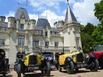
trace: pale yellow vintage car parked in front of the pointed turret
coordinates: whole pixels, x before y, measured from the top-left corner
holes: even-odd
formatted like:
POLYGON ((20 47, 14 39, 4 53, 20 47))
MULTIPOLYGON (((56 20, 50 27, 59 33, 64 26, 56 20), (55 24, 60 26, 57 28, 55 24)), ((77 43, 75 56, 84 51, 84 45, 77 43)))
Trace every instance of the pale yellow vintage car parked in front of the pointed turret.
POLYGON ((64 68, 69 74, 75 73, 80 68, 97 71, 99 66, 98 60, 95 57, 85 55, 77 50, 61 53, 58 60, 58 70, 62 71, 62 68, 64 68))

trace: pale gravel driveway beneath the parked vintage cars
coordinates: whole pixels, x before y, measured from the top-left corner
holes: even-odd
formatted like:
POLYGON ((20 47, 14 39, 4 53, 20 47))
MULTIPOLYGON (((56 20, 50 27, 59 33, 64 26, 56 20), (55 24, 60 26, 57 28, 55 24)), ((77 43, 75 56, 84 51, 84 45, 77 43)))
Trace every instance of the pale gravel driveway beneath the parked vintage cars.
MULTIPOLYGON (((11 71, 7 77, 17 77, 15 71, 11 71)), ((40 71, 34 72, 34 74, 26 74, 25 77, 46 77, 43 76, 40 71)), ((98 70, 98 72, 90 72, 89 70, 81 69, 75 74, 67 74, 65 71, 52 71, 50 77, 103 77, 103 70, 98 70)))

